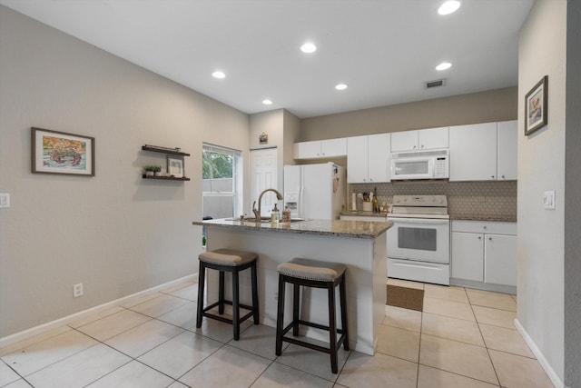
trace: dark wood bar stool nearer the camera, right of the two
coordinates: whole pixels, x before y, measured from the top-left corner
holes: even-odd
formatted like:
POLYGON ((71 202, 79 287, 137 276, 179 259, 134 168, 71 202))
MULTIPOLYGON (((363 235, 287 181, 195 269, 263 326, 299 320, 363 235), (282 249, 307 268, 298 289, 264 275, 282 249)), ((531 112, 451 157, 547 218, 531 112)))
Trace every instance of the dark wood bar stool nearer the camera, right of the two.
POLYGON ((282 342, 294 343, 310 349, 330 354, 330 369, 337 373, 337 350, 341 343, 345 350, 349 349, 349 333, 347 327, 347 293, 345 292, 344 264, 325 263, 310 259, 294 258, 290 262, 279 264, 279 306, 276 318, 276 355, 282 353, 282 342), (284 291, 287 283, 293 284, 292 322, 287 327, 284 324, 284 291), (326 288, 329 293, 329 326, 312 323, 300 319, 300 285, 314 288, 326 288), (340 289, 341 329, 337 328, 335 319, 335 287, 340 289), (292 328, 292 335, 299 335, 299 325, 326 330, 329 332, 330 347, 300 341, 297 338, 286 337, 292 328), (337 334, 340 338, 337 340, 337 334))

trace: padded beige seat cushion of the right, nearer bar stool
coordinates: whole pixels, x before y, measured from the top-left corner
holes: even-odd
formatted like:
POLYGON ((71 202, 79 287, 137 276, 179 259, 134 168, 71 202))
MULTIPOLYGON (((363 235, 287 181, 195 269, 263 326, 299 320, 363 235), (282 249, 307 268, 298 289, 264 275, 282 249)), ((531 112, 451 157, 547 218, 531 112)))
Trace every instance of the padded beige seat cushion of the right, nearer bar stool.
POLYGON ((345 272, 346 268, 344 264, 320 262, 299 257, 277 266, 279 274, 320 282, 333 282, 345 272))

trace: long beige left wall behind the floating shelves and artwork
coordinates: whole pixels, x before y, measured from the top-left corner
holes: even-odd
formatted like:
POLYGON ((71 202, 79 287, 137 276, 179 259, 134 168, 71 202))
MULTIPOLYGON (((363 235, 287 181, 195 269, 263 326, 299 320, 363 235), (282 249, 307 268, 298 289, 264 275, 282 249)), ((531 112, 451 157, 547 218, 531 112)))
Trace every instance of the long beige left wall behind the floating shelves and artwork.
POLYGON ((248 115, 2 5, 0 61, 0 337, 196 273, 202 142, 248 150, 248 115), (94 136, 96 176, 31 174, 31 126, 94 136), (143 144, 192 181, 143 181, 143 144))

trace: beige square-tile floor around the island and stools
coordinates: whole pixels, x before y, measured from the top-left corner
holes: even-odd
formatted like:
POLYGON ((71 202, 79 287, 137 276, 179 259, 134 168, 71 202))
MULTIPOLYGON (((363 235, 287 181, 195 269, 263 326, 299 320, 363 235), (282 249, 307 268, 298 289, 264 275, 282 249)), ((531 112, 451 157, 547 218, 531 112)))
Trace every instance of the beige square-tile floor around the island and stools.
POLYGON ((0 387, 552 387, 514 327, 517 299, 389 279, 425 290, 423 313, 386 306, 374 356, 288 345, 274 329, 204 319, 184 282, 0 349, 0 387))

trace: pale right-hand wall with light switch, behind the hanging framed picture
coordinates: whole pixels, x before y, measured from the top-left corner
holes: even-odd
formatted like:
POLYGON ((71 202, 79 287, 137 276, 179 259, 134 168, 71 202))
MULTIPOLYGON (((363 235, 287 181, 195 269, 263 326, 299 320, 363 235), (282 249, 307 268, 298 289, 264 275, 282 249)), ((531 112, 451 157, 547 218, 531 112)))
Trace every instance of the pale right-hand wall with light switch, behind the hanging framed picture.
MULTIPOLYGON (((524 101, 528 91, 544 75, 548 75, 549 100, 547 126, 529 136, 521 129, 518 135, 517 319, 543 353, 545 360, 539 361, 548 363, 561 381, 564 377, 563 236, 568 132, 566 5, 564 0, 537 1, 521 29, 518 53, 518 100, 524 101), (547 190, 555 190, 555 210, 543 208, 543 193, 547 190)), ((524 114, 524 104, 518 104, 521 128, 524 114)))

